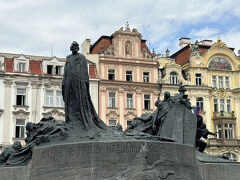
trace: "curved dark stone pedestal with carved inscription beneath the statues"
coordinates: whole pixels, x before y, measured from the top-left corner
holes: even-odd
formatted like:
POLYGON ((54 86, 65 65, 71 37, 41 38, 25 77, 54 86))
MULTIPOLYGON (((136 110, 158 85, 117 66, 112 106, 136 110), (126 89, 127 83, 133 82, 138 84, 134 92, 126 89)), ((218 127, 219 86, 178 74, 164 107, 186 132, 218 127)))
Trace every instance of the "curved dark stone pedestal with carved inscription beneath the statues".
POLYGON ((237 180, 240 165, 201 163, 192 146, 159 141, 78 142, 37 147, 26 167, 0 168, 11 180, 237 180))

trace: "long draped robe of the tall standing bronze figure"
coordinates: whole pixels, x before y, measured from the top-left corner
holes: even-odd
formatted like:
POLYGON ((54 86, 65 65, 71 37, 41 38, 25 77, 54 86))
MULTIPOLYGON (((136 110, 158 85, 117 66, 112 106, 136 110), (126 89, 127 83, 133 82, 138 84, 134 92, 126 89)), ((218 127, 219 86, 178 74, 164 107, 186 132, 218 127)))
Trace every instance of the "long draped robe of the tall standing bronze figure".
POLYGON ((65 102, 65 121, 79 130, 105 129, 99 119, 89 92, 88 65, 80 53, 66 58, 62 93, 65 102))

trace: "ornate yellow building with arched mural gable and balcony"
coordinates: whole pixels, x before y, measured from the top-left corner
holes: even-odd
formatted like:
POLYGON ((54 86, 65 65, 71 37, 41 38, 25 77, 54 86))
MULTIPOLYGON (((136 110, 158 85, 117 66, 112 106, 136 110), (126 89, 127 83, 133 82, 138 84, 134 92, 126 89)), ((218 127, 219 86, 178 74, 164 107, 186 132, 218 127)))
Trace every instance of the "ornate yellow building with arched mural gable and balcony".
POLYGON ((218 38, 191 44, 181 38, 181 49, 168 56, 158 56, 163 91, 177 92, 180 82, 186 85, 192 106, 200 106, 207 128, 218 132, 209 136, 206 151, 240 158, 240 58, 234 49, 218 38))

